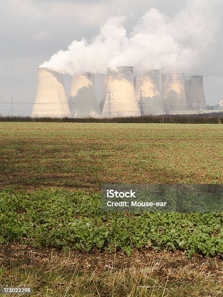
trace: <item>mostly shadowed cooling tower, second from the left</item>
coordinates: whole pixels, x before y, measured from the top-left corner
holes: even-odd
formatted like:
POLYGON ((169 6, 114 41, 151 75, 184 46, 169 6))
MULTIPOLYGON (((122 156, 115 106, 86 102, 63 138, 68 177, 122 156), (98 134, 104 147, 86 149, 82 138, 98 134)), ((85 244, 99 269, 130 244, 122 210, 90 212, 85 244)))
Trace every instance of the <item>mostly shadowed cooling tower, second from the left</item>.
POLYGON ((93 73, 85 73, 72 78, 69 108, 74 117, 101 116, 93 73))

